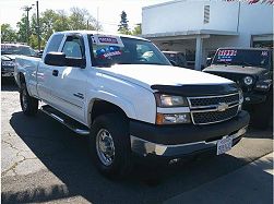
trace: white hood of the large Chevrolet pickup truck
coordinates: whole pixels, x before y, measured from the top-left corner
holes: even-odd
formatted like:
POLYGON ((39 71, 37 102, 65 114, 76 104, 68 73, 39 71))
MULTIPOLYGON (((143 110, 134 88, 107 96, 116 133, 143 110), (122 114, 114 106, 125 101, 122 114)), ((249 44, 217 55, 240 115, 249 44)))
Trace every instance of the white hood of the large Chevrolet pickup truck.
POLYGON ((231 84, 230 80, 200 71, 171 65, 116 64, 111 68, 97 68, 108 74, 151 89, 152 85, 214 85, 231 84))

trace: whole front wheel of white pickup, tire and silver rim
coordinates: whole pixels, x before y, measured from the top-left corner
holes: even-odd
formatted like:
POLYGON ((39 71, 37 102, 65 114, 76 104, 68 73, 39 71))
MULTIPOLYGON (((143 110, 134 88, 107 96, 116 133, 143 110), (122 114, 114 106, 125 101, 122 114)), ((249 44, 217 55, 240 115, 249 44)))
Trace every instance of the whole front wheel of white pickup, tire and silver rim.
POLYGON ((127 119, 108 113, 95 119, 90 137, 92 158, 98 170, 110 178, 126 177, 132 167, 127 119))

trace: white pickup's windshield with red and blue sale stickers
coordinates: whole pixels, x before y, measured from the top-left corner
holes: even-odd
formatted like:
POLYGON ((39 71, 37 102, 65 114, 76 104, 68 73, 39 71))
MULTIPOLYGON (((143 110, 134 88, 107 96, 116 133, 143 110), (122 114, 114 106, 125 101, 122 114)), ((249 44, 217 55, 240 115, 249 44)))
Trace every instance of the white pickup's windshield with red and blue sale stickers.
POLYGON ((165 56, 151 43, 119 36, 90 35, 93 65, 162 64, 170 65, 165 56))

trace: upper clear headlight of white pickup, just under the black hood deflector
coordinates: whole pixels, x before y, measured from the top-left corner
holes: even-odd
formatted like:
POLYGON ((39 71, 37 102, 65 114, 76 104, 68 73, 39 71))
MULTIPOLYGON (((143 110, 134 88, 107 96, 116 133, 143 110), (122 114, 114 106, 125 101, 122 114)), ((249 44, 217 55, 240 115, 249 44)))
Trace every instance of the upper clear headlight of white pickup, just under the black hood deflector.
POLYGON ((182 96, 170 96, 165 94, 155 94, 157 107, 183 107, 188 106, 187 98, 182 96))

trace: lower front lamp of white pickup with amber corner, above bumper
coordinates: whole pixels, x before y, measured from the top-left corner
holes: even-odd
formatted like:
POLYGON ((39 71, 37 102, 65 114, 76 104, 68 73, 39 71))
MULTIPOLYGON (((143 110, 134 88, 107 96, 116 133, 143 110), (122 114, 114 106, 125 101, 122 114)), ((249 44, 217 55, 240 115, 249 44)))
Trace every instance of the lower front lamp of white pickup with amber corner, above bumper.
POLYGON ((156 124, 190 123, 189 112, 182 113, 157 113, 156 124))

